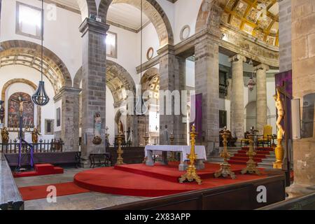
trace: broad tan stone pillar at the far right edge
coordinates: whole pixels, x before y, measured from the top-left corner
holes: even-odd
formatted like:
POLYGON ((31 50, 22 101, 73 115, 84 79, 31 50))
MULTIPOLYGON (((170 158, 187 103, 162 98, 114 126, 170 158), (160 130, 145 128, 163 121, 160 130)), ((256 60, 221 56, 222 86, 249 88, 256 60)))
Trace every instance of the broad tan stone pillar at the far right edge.
MULTIPOLYGON (((300 99, 301 120, 315 120, 314 101, 308 99, 311 94, 315 94, 315 1, 292 0, 290 3, 293 99, 300 99)), ((283 26, 282 22, 279 26, 283 26)), ((307 136, 303 136, 302 131, 302 138, 293 141, 294 183, 286 189, 290 196, 315 192, 315 123, 313 127, 307 127, 308 125, 302 125, 307 136), (312 136, 309 136, 310 133, 312 136)))

